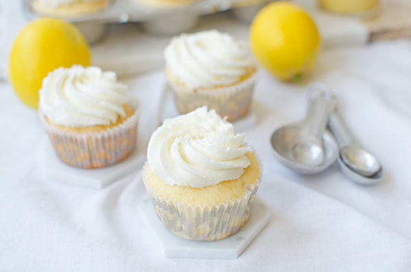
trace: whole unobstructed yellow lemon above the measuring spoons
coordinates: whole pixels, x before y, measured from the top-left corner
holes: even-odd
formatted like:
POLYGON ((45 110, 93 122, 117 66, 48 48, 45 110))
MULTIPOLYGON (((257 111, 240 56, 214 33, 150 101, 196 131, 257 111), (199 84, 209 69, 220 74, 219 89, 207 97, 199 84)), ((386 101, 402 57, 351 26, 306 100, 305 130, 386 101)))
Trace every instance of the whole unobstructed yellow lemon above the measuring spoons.
POLYGON ((267 70, 284 81, 311 71, 321 49, 316 25, 299 6, 274 2, 262 8, 250 29, 251 50, 267 70))

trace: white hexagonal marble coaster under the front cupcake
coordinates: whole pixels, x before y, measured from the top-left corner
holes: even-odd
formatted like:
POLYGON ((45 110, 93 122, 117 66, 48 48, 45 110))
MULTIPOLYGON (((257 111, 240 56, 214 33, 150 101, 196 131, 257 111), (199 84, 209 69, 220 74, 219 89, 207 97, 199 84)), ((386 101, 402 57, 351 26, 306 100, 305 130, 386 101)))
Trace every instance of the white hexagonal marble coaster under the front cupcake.
POLYGON ((138 210, 147 229, 158 239, 164 256, 178 258, 236 259, 271 218, 269 208, 256 197, 247 223, 236 234, 222 240, 194 241, 169 232, 155 214, 150 199, 145 200, 138 210))

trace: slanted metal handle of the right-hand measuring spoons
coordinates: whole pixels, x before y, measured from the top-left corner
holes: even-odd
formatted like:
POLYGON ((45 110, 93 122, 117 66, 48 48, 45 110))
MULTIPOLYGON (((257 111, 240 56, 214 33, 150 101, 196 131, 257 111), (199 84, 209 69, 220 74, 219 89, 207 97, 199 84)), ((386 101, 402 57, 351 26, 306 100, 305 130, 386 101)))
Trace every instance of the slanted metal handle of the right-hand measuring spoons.
POLYGON ((356 139, 349 131, 338 110, 334 110, 334 112, 329 115, 328 125, 336 137, 340 147, 344 147, 346 145, 358 145, 356 139))

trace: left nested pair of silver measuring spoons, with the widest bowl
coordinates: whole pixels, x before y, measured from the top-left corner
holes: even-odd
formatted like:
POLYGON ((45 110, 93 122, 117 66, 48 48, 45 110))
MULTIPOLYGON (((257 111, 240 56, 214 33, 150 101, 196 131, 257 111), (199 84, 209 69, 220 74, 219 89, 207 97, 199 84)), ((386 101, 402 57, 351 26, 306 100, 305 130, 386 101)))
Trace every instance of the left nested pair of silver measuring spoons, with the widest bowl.
POLYGON ((277 129, 271 145, 279 162, 299 173, 314 174, 324 171, 337 158, 336 143, 325 132, 334 100, 328 88, 319 83, 311 84, 306 95, 310 103, 306 119, 277 129), (317 90, 320 95, 314 97, 317 90))

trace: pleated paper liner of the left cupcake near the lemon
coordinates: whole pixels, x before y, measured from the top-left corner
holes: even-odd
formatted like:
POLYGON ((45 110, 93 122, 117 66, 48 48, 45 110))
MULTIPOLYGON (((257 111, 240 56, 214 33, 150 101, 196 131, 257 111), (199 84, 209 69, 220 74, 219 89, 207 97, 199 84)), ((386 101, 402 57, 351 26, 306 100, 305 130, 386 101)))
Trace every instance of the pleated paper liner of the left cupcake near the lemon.
POLYGON ((83 169, 95 169, 120 162, 132 153, 136 145, 140 107, 137 100, 129 103, 135 112, 120 125, 93 133, 64 132, 51 125, 39 110, 40 121, 49 134, 60 160, 83 169))

